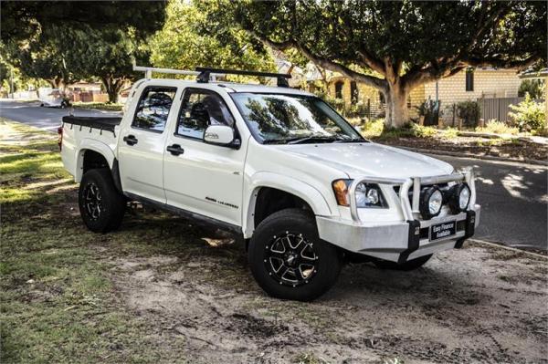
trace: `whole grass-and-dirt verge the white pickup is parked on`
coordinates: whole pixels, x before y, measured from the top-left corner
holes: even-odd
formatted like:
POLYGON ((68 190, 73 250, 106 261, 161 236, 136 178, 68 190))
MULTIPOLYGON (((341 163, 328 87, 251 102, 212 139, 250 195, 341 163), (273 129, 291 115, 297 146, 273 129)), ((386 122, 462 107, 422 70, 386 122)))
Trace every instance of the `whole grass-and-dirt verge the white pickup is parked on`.
POLYGON ((547 258, 468 243, 281 301, 242 246, 175 216, 90 233, 53 137, 0 126, 3 363, 548 363, 547 258))

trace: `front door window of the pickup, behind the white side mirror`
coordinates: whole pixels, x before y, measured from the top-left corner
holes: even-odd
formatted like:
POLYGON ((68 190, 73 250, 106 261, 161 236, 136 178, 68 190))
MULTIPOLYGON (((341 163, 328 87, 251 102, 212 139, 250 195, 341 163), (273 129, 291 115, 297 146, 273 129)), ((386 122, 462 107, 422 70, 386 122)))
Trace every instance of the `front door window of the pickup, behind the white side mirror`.
POLYGON ((216 92, 189 88, 184 92, 181 113, 177 122, 177 135, 203 139, 209 125, 234 127, 234 119, 227 104, 216 92))

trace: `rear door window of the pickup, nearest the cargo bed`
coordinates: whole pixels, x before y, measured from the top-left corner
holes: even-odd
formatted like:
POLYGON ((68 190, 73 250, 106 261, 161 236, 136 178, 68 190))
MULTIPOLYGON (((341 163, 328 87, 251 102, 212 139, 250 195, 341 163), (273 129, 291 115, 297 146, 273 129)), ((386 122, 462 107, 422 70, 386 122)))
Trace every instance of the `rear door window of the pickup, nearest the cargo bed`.
POLYGON ((177 88, 145 88, 135 110, 132 127, 162 132, 177 88))

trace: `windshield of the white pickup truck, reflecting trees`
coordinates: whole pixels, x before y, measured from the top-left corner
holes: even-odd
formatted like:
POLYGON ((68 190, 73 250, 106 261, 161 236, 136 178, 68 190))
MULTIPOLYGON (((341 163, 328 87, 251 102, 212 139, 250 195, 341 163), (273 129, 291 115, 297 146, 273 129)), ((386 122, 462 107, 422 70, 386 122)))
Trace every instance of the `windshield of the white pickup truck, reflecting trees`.
POLYGON ((230 96, 263 143, 364 141, 352 125, 319 98, 258 93, 230 96))

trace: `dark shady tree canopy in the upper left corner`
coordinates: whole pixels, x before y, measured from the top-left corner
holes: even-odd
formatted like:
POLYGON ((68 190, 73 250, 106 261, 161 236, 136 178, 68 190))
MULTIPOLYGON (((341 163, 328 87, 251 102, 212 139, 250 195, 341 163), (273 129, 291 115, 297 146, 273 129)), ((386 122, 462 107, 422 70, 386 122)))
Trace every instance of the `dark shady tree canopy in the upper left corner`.
POLYGON ((26 77, 53 87, 97 77, 115 102, 146 36, 163 26, 164 1, 2 2, 2 43, 26 77))

